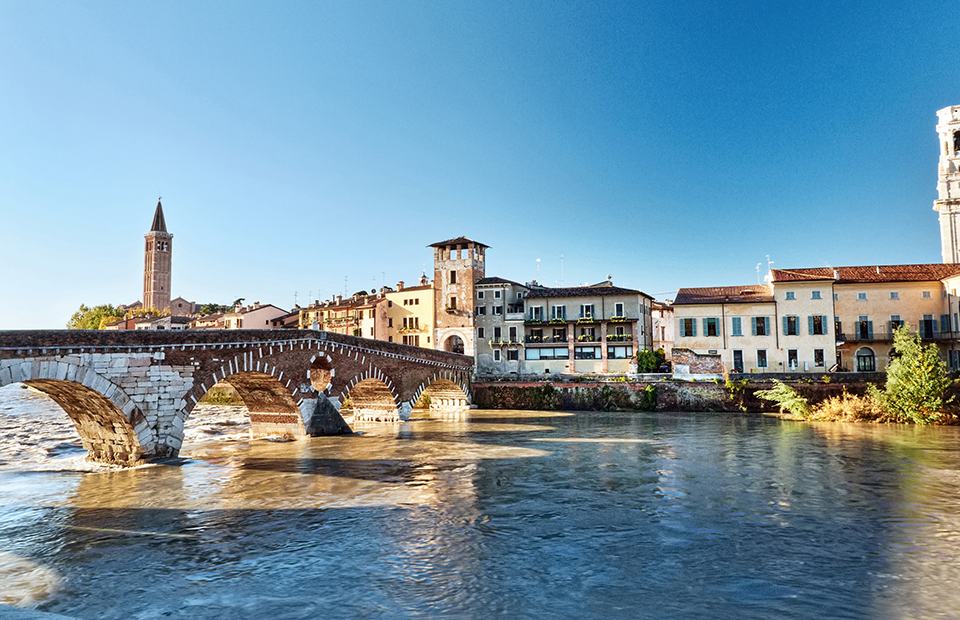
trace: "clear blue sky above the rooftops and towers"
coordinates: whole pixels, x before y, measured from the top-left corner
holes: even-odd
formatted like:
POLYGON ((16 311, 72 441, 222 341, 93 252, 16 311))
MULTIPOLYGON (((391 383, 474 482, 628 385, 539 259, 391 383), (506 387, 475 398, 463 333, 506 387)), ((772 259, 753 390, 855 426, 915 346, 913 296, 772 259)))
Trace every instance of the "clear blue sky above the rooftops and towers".
POLYGON ((958 22, 926 0, 0 0, 0 329, 141 299, 161 194, 173 295, 200 303, 410 283, 461 235, 487 275, 660 299, 768 255, 939 262, 958 22))

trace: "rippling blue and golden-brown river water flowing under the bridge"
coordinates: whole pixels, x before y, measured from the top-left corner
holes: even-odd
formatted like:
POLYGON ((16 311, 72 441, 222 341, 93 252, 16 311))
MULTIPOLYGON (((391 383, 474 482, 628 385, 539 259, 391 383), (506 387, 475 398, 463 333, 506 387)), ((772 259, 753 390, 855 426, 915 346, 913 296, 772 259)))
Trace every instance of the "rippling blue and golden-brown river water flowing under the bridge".
MULTIPOLYGON (((960 429, 474 411, 84 462, 0 390, 0 602, 77 618, 956 618, 960 429)), ((416 416, 416 412, 415 412, 416 416)))

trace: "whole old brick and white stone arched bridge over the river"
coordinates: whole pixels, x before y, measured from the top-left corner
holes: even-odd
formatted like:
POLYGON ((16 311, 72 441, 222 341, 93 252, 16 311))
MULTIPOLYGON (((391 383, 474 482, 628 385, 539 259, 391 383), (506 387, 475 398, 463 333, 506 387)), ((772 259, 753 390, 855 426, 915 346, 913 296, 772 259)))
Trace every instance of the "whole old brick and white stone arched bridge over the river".
POLYGON ((314 330, 0 331, 0 387, 22 382, 70 416, 94 461, 176 456, 183 427, 219 381, 236 388, 254 437, 351 432, 340 416, 394 422, 421 395, 470 406, 473 359, 314 330))

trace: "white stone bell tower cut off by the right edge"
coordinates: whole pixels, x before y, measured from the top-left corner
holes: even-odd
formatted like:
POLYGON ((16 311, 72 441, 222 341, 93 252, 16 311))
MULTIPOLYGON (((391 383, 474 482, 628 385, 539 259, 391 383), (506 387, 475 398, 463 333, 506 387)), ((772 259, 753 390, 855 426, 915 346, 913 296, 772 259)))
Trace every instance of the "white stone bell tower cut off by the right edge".
POLYGON ((943 262, 960 263, 960 106, 937 111, 937 118, 940 165, 933 210, 940 212, 943 262))

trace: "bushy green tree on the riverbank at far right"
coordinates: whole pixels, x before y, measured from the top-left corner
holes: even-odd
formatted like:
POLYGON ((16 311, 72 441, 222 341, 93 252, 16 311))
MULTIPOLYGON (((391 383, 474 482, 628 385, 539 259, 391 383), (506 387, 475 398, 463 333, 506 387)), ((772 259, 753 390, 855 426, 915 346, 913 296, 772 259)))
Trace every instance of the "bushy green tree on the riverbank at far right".
POLYGON ((884 390, 871 390, 898 422, 928 424, 943 417, 943 407, 953 398, 944 394, 953 384, 936 344, 923 346, 920 334, 911 335, 907 326, 893 332, 896 357, 887 366, 884 390))

